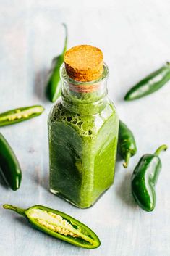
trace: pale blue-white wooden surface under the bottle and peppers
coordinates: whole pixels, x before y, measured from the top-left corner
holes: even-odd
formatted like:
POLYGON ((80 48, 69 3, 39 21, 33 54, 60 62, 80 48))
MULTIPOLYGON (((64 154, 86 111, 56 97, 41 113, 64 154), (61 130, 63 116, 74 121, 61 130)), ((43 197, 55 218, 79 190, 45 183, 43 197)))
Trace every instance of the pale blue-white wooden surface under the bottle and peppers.
POLYGON ((11 191, 0 179, 0 202, 29 207, 47 205, 67 212, 98 234, 101 247, 80 249, 33 230, 14 212, 0 209, 1 256, 169 256, 170 157, 163 169, 152 213, 132 198, 130 178, 140 156, 160 144, 170 147, 170 83, 136 102, 124 93, 140 78, 170 60, 170 2, 153 1, 0 1, 0 112, 43 104, 46 112, 33 120, 0 128, 22 166, 22 184, 11 191), (51 103, 44 86, 51 59, 64 42, 61 22, 69 29, 69 46, 93 44, 103 50, 110 67, 109 96, 119 116, 135 133, 138 152, 129 168, 116 165, 114 186, 88 210, 80 210, 48 191, 47 117, 51 103))

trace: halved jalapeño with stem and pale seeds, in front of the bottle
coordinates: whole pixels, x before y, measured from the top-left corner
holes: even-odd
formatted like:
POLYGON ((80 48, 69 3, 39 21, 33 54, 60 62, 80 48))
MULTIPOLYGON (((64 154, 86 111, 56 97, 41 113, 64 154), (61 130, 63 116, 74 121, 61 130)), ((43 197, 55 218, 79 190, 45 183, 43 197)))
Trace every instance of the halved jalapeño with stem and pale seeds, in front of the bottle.
POLYGON ((88 226, 64 212, 42 205, 34 205, 26 210, 12 205, 3 205, 3 207, 23 215, 34 228, 77 247, 93 249, 101 244, 98 236, 88 226))

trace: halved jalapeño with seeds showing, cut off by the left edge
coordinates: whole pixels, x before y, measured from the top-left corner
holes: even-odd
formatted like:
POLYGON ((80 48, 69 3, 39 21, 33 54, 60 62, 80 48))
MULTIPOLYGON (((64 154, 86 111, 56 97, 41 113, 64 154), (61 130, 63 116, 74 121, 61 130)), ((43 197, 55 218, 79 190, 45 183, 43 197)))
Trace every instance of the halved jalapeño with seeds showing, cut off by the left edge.
POLYGON ((44 108, 41 105, 20 107, 0 114, 0 126, 13 125, 41 115, 44 108))

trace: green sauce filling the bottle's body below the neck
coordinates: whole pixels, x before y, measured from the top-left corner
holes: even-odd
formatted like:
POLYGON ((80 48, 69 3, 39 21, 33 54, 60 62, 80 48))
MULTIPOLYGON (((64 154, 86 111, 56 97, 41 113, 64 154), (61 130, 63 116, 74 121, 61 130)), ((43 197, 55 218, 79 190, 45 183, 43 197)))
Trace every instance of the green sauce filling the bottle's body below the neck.
POLYGON ((48 119, 51 192, 77 207, 93 205, 114 181, 118 126, 111 102, 95 115, 80 115, 59 101, 48 119))

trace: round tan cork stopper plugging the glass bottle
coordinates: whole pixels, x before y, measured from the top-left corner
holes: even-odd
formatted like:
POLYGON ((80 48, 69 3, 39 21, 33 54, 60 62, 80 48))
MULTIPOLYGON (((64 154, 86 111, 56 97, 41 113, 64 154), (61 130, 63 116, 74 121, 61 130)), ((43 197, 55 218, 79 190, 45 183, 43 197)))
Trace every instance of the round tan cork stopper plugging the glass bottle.
POLYGON ((67 75, 80 82, 97 80, 103 73, 103 53, 90 45, 69 49, 64 55, 67 75))

